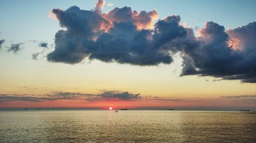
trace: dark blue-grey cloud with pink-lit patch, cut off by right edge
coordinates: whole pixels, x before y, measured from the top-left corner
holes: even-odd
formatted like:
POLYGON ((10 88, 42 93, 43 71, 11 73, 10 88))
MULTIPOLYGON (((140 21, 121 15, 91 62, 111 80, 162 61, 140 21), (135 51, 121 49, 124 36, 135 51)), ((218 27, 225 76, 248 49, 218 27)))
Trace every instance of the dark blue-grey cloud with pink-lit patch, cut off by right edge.
POLYGON ((256 22, 227 32, 223 26, 207 22, 199 31, 199 47, 184 49, 182 75, 256 82, 255 32, 256 22))

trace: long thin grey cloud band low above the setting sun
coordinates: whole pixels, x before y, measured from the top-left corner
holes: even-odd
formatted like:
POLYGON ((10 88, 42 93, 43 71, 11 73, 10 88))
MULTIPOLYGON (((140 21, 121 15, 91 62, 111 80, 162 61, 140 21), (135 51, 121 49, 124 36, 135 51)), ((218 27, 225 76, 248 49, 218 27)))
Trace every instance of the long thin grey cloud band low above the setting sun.
POLYGON ((87 100, 87 101, 135 101, 141 99, 140 94, 132 94, 122 91, 103 91, 100 94, 52 92, 44 95, 32 94, 0 94, 0 102, 7 101, 53 101, 53 100, 87 100))

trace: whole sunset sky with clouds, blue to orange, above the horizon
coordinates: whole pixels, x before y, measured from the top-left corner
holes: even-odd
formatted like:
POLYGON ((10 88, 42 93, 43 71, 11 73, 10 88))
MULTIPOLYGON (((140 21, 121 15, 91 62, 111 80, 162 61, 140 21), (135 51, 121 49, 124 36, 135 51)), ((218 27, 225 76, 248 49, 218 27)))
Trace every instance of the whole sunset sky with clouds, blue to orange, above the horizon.
POLYGON ((256 110, 255 6, 0 0, 0 108, 256 110))

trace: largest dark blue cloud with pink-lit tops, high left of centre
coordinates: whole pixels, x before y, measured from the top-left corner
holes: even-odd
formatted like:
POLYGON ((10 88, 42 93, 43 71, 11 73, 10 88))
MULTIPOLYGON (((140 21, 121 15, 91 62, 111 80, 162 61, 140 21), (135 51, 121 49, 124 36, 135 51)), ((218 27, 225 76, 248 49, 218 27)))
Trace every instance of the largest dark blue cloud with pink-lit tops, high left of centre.
MULTIPOLYGON (((125 7, 103 15, 75 6, 66 11, 53 9, 52 12, 67 31, 56 33, 55 50, 48 54, 48 61, 75 64, 89 57, 91 60, 132 65, 172 62, 170 55, 161 51, 159 46, 160 40, 165 42, 160 36, 163 31, 159 31, 157 40, 153 41, 152 30, 137 30, 140 24, 150 24, 154 12, 134 14, 131 8, 125 7), (128 19, 124 15, 129 16, 128 19)), ((161 22, 178 26, 175 20, 161 22)), ((170 37, 180 36, 173 36, 171 32, 168 34, 170 37)))

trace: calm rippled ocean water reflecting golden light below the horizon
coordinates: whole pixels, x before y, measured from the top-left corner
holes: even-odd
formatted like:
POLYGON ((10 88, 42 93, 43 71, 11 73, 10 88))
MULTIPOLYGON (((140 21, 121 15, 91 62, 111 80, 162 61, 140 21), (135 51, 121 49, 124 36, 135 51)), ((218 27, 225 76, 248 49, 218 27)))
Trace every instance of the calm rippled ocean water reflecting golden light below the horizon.
POLYGON ((0 142, 256 142, 256 112, 2 110, 0 142))

